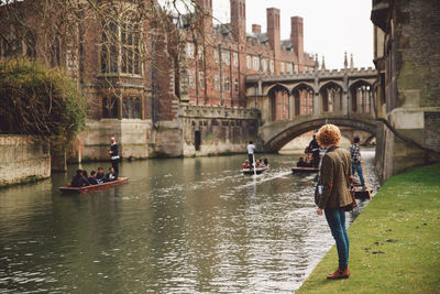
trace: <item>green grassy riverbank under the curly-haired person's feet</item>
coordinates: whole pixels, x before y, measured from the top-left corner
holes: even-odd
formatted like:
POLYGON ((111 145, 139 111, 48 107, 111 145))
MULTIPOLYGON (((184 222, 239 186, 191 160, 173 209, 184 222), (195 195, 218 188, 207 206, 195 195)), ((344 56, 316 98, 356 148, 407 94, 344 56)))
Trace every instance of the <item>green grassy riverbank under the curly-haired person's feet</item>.
POLYGON ((349 228, 348 280, 329 281, 336 247, 296 293, 438 293, 440 164, 391 177, 349 228))

